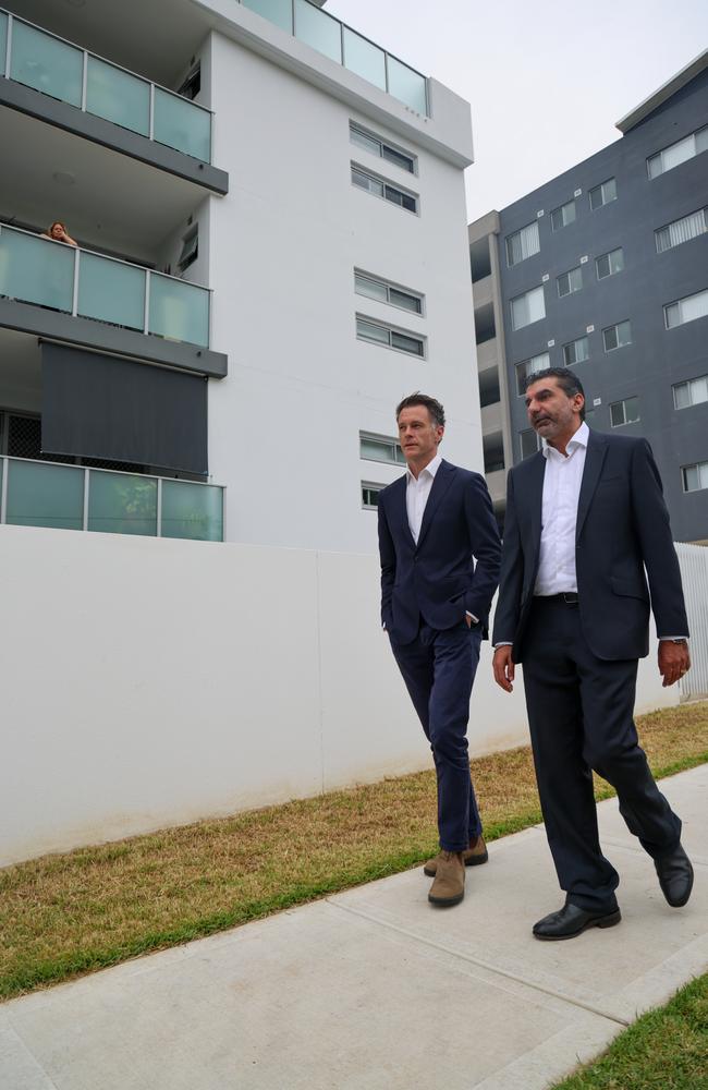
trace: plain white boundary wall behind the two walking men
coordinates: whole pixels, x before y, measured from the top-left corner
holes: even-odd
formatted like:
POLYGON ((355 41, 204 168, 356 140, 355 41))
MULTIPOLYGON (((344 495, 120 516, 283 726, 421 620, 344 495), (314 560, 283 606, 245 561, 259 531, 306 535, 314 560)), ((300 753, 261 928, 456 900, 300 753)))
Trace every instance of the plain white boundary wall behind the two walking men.
MULTIPOLYGON (((0 528, 0 865, 430 766, 373 556, 0 528)), ((473 754, 527 741, 521 681, 473 754)), ((655 654, 637 710, 675 704, 655 654)))

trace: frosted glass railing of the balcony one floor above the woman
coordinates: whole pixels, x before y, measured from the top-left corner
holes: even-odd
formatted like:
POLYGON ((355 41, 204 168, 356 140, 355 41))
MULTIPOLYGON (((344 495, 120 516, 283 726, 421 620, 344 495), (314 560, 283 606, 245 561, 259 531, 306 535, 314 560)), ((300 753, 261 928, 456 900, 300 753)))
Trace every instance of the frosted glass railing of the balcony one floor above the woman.
POLYGON ((0 75, 211 162, 211 111, 0 9, 0 75))

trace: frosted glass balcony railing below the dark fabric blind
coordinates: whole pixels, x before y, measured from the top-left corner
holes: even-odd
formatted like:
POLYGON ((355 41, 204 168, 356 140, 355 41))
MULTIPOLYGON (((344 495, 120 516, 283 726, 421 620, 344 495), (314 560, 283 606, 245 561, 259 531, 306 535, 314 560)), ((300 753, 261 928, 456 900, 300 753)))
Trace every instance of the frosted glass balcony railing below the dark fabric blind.
POLYGON ((0 458, 0 524, 223 541, 223 487, 0 458))

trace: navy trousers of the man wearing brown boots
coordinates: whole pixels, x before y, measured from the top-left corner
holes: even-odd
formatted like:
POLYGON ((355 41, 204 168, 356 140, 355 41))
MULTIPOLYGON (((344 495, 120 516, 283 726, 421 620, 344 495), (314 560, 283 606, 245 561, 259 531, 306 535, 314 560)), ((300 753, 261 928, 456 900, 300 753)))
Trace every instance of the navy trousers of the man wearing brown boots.
POLYGON ((445 851, 464 851, 481 833, 469 775, 467 720, 481 630, 462 621, 438 630, 420 621, 412 643, 391 649, 430 742, 438 778, 438 831, 445 851))

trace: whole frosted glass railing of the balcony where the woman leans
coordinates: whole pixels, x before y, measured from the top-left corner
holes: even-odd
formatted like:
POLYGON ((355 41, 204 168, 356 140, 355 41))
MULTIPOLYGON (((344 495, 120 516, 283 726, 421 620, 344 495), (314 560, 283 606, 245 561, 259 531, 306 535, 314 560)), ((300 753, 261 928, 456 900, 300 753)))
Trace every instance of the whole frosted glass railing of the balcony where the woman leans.
POLYGON ((209 347, 207 288, 16 227, 0 227, 0 295, 209 347))

